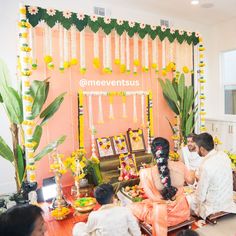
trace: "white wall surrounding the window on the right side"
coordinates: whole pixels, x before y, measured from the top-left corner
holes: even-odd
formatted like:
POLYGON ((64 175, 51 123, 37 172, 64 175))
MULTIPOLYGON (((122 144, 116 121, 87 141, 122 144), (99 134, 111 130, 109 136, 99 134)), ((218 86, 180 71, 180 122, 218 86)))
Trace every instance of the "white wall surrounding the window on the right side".
MULTIPOLYGON (((208 80, 206 87, 206 110, 208 118, 233 120, 235 116, 224 115, 224 94, 221 85, 220 53, 236 49, 236 18, 211 27, 208 36, 208 80)), ((235 68, 232 68, 235 70, 235 68)))

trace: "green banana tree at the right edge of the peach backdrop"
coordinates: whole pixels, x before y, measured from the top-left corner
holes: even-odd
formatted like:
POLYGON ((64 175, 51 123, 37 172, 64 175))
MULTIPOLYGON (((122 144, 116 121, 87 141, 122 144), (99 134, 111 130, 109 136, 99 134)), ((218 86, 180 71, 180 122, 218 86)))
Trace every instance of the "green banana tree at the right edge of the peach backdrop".
MULTIPOLYGON (((194 106, 197 93, 194 94, 192 85, 185 85, 185 76, 181 74, 179 78, 173 80, 159 79, 165 101, 170 109, 179 117, 178 132, 180 144, 186 143, 186 137, 193 132, 195 126, 195 115, 198 107, 194 106)), ((174 125, 168 120, 172 132, 175 134, 174 125)))

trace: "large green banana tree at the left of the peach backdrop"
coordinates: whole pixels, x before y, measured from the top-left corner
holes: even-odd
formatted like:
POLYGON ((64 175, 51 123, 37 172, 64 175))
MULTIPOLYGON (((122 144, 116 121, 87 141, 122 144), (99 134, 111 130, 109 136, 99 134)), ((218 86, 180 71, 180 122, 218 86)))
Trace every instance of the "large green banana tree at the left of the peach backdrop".
MULTIPOLYGON (((7 145, 0 136, 0 156, 11 162, 15 168, 15 181, 17 192, 21 190, 21 185, 26 177, 26 163, 24 157, 24 129, 23 129, 23 99, 21 91, 17 91, 10 85, 9 72, 6 64, 0 60, 0 103, 4 107, 10 123, 12 136, 12 148, 7 145)), ((44 110, 43 106, 47 100, 49 91, 49 79, 44 81, 34 80, 29 89, 32 97, 32 112, 28 119, 37 122, 33 131, 32 142, 35 143, 34 151, 37 150, 43 126, 57 112, 64 100, 66 93, 60 94, 44 110)), ((41 160, 45 155, 52 152, 58 145, 64 142, 66 136, 61 136, 57 140, 49 143, 34 157, 35 161, 41 160)))

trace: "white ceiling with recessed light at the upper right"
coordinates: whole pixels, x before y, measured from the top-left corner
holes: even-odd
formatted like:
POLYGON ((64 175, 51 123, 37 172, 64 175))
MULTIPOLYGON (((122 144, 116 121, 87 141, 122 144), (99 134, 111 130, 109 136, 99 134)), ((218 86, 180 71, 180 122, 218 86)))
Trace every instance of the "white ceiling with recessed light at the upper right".
POLYGON ((190 2, 191 0, 119 0, 113 3, 133 10, 147 11, 163 17, 178 17, 207 25, 236 17, 236 0, 200 0, 200 4, 195 6, 190 2))

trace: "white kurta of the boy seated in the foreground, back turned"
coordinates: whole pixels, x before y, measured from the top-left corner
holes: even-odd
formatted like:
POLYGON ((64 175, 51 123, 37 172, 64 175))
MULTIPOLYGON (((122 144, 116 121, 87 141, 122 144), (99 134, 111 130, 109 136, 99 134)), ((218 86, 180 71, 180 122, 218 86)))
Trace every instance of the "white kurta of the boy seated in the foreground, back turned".
POLYGON ((77 223, 72 234, 73 236, 141 236, 141 231, 129 209, 107 204, 91 212, 86 224, 77 223))

